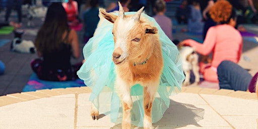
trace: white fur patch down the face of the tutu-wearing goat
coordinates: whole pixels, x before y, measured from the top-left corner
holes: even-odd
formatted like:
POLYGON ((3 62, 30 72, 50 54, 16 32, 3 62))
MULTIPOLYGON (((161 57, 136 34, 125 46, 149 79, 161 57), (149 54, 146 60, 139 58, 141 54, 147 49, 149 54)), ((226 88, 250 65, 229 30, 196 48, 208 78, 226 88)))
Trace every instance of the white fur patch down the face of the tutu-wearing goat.
POLYGON ((124 59, 128 56, 128 50, 127 50, 127 42, 131 41, 132 39, 128 39, 130 31, 133 29, 135 26, 135 20, 124 18, 124 19, 119 19, 117 21, 117 27, 116 30, 114 30, 115 34, 115 48, 121 48, 122 53, 120 58, 124 59))

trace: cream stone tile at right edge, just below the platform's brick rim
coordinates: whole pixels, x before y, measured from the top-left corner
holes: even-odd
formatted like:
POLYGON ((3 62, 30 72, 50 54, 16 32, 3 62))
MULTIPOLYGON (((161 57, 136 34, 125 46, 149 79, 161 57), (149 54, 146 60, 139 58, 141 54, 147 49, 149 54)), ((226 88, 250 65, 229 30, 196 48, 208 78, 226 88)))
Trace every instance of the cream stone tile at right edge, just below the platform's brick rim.
POLYGON ((220 95, 201 96, 221 115, 258 115, 258 102, 220 95))

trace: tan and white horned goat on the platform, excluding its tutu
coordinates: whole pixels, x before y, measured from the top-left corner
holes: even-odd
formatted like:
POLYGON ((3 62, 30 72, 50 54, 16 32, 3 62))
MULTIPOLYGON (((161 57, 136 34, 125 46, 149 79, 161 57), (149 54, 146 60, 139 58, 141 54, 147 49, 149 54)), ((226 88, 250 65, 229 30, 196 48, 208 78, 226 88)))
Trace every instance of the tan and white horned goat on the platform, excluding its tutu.
MULTIPOLYGON (((163 57, 158 29, 151 25, 141 13, 124 15, 118 2, 118 16, 100 9, 100 14, 113 23, 114 50, 112 60, 115 64, 115 88, 123 107, 122 128, 131 128, 131 110, 133 101, 131 88, 140 84, 144 88, 144 120, 145 129, 152 128, 152 103, 160 84, 163 70, 163 57)), ((98 119, 99 111, 92 105, 91 115, 98 119)))

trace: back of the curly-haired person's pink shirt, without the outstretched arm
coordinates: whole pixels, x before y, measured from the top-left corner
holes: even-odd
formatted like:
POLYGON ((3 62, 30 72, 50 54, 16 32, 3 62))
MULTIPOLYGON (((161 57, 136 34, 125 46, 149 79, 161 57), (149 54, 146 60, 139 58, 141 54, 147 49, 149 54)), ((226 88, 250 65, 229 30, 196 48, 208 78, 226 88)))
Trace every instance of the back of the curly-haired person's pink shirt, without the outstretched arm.
POLYGON ((208 33, 209 31, 213 33, 214 40, 216 41, 212 66, 217 68, 223 60, 230 60, 237 63, 242 50, 242 36, 239 31, 228 24, 211 27, 208 33))

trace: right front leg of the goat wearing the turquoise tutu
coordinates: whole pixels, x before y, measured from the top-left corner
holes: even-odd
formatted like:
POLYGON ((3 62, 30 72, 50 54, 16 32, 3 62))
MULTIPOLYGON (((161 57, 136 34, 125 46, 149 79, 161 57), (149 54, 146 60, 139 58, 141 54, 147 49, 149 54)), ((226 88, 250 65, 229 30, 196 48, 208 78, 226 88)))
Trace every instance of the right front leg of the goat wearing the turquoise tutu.
POLYGON ((157 92, 158 86, 159 86, 159 82, 156 82, 156 83, 150 83, 149 85, 144 87, 144 100, 143 100, 143 107, 144 107, 143 127, 144 127, 144 129, 153 128, 151 111, 152 111, 152 103, 155 98, 155 94, 157 92))

